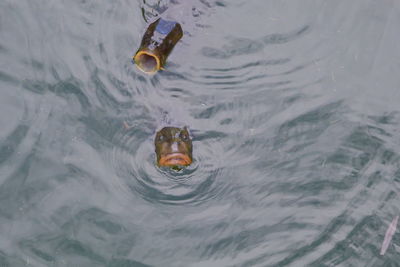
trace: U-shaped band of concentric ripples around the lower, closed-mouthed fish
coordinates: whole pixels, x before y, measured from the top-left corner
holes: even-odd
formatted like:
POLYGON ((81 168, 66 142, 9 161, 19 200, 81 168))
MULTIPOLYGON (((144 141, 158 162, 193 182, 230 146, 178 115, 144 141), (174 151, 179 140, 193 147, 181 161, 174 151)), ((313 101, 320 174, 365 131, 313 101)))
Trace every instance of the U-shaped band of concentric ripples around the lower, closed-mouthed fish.
POLYGON ((112 142, 112 165, 119 179, 133 194, 150 202, 198 204, 219 191, 215 179, 221 169, 221 155, 215 140, 200 145, 195 137, 193 163, 181 170, 158 167, 153 140, 134 127, 122 128, 112 142))

